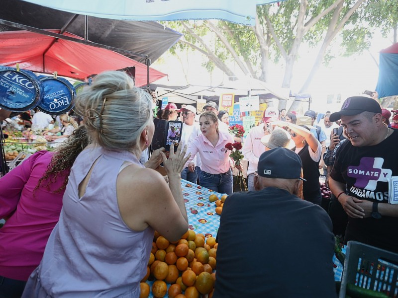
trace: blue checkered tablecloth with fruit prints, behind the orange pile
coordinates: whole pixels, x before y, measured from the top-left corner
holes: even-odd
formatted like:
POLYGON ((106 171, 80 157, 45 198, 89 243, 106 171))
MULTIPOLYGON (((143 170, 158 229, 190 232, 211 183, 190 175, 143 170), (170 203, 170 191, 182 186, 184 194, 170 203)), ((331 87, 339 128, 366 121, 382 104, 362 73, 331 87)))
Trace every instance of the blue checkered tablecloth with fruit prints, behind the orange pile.
POLYGON ((208 197, 216 195, 221 198, 223 194, 184 179, 181 179, 181 188, 188 213, 189 228, 196 233, 211 234, 215 237, 220 225, 220 216, 215 213, 215 203, 210 203, 208 197))

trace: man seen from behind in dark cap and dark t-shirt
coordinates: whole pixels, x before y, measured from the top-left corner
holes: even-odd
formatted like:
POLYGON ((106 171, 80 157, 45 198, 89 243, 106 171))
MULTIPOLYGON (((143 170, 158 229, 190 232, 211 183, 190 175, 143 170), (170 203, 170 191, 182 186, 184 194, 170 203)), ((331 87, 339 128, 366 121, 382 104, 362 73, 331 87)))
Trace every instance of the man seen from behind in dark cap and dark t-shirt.
POLYGON ((336 297, 332 224, 297 196, 299 156, 277 147, 261 154, 257 170, 257 191, 225 200, 213 298, 336 297))

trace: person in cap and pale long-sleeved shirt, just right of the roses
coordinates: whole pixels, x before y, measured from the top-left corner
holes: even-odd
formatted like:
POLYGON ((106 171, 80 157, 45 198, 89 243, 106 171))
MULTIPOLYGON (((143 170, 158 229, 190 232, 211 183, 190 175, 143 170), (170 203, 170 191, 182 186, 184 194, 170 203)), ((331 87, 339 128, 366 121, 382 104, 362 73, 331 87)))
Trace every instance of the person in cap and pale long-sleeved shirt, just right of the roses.
POLYGON ((277 108, 269 107, 264 111, 263 123, 250 129, 246 140, 243 143, 242 153, 249 161, 247 168, 248 190, 254 189, 254 173, 257 171, 257 164, 260 155, 265 151, 265 146, 261 143, 261 139, 271 134, 271 122, 279 120, 279 110, 277 108))

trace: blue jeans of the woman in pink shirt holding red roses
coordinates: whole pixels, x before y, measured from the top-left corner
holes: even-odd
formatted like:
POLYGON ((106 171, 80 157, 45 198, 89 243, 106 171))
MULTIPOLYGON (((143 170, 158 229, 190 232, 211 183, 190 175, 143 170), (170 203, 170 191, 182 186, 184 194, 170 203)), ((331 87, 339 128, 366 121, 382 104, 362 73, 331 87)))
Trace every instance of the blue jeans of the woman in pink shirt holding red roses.
POLYGON ((205 188, 212 189, 221 194, 232 194, 233 178, 231 169, 223 174, 209 174, 201 171, 199 180, 200 185, 205 188))

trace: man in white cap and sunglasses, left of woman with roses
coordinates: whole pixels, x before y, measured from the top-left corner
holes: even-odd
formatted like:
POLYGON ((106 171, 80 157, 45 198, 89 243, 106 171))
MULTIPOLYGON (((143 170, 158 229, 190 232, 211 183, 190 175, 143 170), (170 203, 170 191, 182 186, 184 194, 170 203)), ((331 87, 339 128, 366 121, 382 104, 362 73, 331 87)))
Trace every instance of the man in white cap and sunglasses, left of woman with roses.
MULTIPOLYGON (((192 105, 186 105, 181 108, 183 116, 183 129, 181 133, 181 145, 187 145, 198 137, 200 132, 200 127, 197 122, 195 122, 196 108, 192 105)), ((181 178, 188 180, 192 183, 197 183, 198 173, 196 167, 200 167, 200 157, 195 156, 194 160, 181 172, 181 178)))

